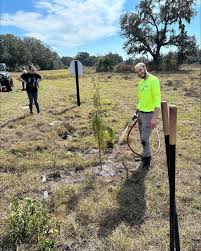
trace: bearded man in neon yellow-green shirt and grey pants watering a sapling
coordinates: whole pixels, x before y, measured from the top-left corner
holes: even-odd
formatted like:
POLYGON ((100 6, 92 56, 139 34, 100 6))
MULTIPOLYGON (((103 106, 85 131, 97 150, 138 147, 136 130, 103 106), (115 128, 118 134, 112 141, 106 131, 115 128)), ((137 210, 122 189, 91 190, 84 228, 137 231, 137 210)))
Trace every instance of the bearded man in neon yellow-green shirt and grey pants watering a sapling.
POLYGON ((147 71, 144 63, 135 65, 135 73, 141 78, 138 83, 138 127, 143 146, 142 167, 149 168, 151 148, 149 138, 156 127, 157 116, 161 106, 160 82, 157 77, 147 71))

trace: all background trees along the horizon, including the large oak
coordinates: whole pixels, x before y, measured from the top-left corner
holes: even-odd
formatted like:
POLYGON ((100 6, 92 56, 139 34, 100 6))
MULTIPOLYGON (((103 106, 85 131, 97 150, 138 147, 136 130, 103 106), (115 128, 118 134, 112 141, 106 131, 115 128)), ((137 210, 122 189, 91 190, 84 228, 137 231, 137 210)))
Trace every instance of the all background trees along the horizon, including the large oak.
POLYGON ((186 24, 196 15, 195 4, 196 0, 141 0, 134 12, 121 15, 121 36, 125 39, 124 49, 130 56, 125 61, 117 53, 96 57, 79 52, 75 57, 60 58, 39 39, 6 34, 0 35, 0 62, 12 70, 29 63, 42 70, 52 70, 68 67, 73 59, 78 59, 85 66, 96 66, 98 72, 127 71, 128 65, 138 60, 137 55, 141 55, 143 61, 147 61, 149 55, 148 63, 155 70, 177 69, 186 62, 200 63, 200 48, 195 36, 186 31, 186 24), (174 52, 163 55, 163 48, 174 48, 174 52))

